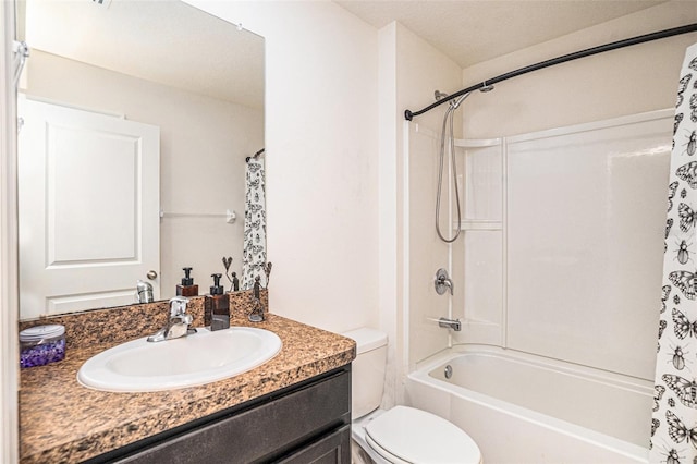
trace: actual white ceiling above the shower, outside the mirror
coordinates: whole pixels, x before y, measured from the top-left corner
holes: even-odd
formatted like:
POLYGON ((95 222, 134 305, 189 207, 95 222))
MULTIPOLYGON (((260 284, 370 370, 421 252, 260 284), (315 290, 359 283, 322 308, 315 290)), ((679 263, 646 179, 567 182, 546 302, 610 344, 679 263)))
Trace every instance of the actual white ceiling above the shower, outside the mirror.
POLYGON ((377 28, 398 21, 460 66, 467 68, 664 1, 335 0, 335 3, 377 28))

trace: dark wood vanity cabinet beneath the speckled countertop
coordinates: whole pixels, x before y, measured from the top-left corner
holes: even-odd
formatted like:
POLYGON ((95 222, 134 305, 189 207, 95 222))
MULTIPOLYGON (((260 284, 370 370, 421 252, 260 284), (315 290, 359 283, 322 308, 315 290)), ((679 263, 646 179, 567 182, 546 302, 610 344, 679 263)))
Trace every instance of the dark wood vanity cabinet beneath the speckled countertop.
POLYGON ((89 463, 350 464, 351 365, 89 463))

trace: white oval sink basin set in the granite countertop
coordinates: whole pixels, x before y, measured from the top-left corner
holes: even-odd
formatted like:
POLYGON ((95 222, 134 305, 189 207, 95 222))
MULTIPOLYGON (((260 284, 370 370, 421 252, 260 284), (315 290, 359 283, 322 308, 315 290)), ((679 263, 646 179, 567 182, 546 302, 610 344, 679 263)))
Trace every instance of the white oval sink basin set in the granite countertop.
POLYGON ((106 350, 83 364, 77 380, 105 391, 172 390, 236 376, 281 350, 281 339, 264 329, 197 330, 181 339, 152 343, 144 337, 106 350))

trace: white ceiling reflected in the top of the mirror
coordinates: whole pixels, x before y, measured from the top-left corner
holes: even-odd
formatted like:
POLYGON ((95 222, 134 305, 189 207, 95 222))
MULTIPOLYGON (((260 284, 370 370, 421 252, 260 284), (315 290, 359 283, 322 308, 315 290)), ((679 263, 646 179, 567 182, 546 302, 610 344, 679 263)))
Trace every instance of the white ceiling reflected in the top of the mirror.
POLYGON ((264 108, 264 39, 181 1, 27 0, 26 41, 72 60, 264 108))

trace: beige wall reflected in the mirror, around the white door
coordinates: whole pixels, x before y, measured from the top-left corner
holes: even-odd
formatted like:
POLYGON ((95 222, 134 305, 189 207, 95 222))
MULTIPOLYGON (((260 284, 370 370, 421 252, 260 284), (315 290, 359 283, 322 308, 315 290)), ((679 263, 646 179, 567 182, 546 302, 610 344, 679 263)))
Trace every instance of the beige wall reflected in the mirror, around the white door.
MULTIPOLYGON (((240 272, 244 232, 245 157, 264 147, 264 111, 158 85, 33 50, 26 93, 58 103, 125 115, 160 127, 160 205, 164 212, 224 218, 163 218, 162 297, 175 294, 182 268, 194 268, 199 293, 232 256, 240 272), (56 85, 60 82, 60 85, 56 85)), ((240 274, 240 273, 239 273, 240 274)), ((135 282, 134 282, 135 285, 135 282)), ((135 289, 135 286, 134 286, 135 289)))

